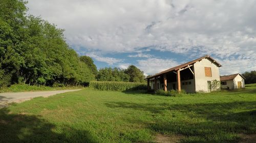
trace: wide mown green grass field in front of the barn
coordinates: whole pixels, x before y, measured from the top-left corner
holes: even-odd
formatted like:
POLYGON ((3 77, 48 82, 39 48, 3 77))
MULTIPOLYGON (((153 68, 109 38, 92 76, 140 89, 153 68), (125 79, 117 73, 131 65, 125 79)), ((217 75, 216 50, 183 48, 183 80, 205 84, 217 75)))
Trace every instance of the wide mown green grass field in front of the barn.
POLYGON ((256 84, 164 97, 81 90, 0 109, 0 142, 239 142, 256 134, 256 84))

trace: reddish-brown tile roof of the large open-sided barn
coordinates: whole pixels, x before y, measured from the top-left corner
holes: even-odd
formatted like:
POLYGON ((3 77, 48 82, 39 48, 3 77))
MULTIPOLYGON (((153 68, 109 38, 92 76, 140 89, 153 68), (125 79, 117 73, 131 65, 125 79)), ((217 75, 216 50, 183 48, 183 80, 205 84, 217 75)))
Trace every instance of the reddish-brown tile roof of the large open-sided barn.
POLYGON ((198 62, 198 61, 201 61, 201 60, 203 60, 203 59, 209 59, 210 61, 212 61, 213 63, 215 63, 218 67, 221 67, 221 64, 220 64, 220 63, 216 62, 216 61, 215 61, 213 58, 211 58, 209 55, 205 55, 205 56, 203 56, 203 57, 201 57, 201 58, 199 58, 199 59, 196 59, 196 60, 194 60, 194 61, 190 61, 190 62, 187 62, 187 63, 185 63, 185 64, 182 64, 182 65, 179 65, 179 66, 176 66, 176 67, 167 69, 167 70, 162 71, 162 72, 160 72, 160 73, 157 73, 157 74, 155 74, 155 75, 149 76, 149 77, 147 77, 147 78, 145 78, 145 79, 157 77, 157 76, 159 76, 159 75, 161 75, 161 74, 164 74, 164 73, 167 73, 167 72, 177 71, 178 69, 184 68, 184 67, 186 67, 186 66, 188 66, 188 65, 194 64, 194 63, 196 63, 196 62, 198 62))

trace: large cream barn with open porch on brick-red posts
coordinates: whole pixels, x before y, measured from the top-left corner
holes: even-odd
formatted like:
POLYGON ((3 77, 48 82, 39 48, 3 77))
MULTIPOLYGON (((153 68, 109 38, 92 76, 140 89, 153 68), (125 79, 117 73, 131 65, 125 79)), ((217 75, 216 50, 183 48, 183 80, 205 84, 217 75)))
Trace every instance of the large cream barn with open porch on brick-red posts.
POLYGON ((209 55, 145 78, 148 90, 211 92, 213 80, 220 81, 219 64, 209 55))

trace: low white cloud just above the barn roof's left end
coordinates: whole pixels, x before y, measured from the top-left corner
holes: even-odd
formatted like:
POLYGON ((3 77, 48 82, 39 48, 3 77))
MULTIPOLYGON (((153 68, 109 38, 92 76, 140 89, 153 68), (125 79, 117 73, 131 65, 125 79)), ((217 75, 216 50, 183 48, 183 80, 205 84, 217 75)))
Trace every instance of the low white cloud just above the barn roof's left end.
POLYGON ((148 75, 153 75, 169 68, 180 65, 181 63, 176 62, 172 59, 159 59, 150 58, 146 60, 138 61, 138 68, 144 71, 148 75))

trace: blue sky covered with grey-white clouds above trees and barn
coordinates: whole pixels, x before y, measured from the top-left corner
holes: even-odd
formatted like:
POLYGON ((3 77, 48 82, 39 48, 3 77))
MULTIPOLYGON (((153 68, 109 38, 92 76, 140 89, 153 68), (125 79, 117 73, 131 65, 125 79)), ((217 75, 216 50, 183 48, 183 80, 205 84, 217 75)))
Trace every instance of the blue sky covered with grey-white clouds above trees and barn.
POLYGON ((65 29, 98 68, 146 74, 209 54, 222 75, 256 70, 256 1, 29 0, 29 13, 65 29))

